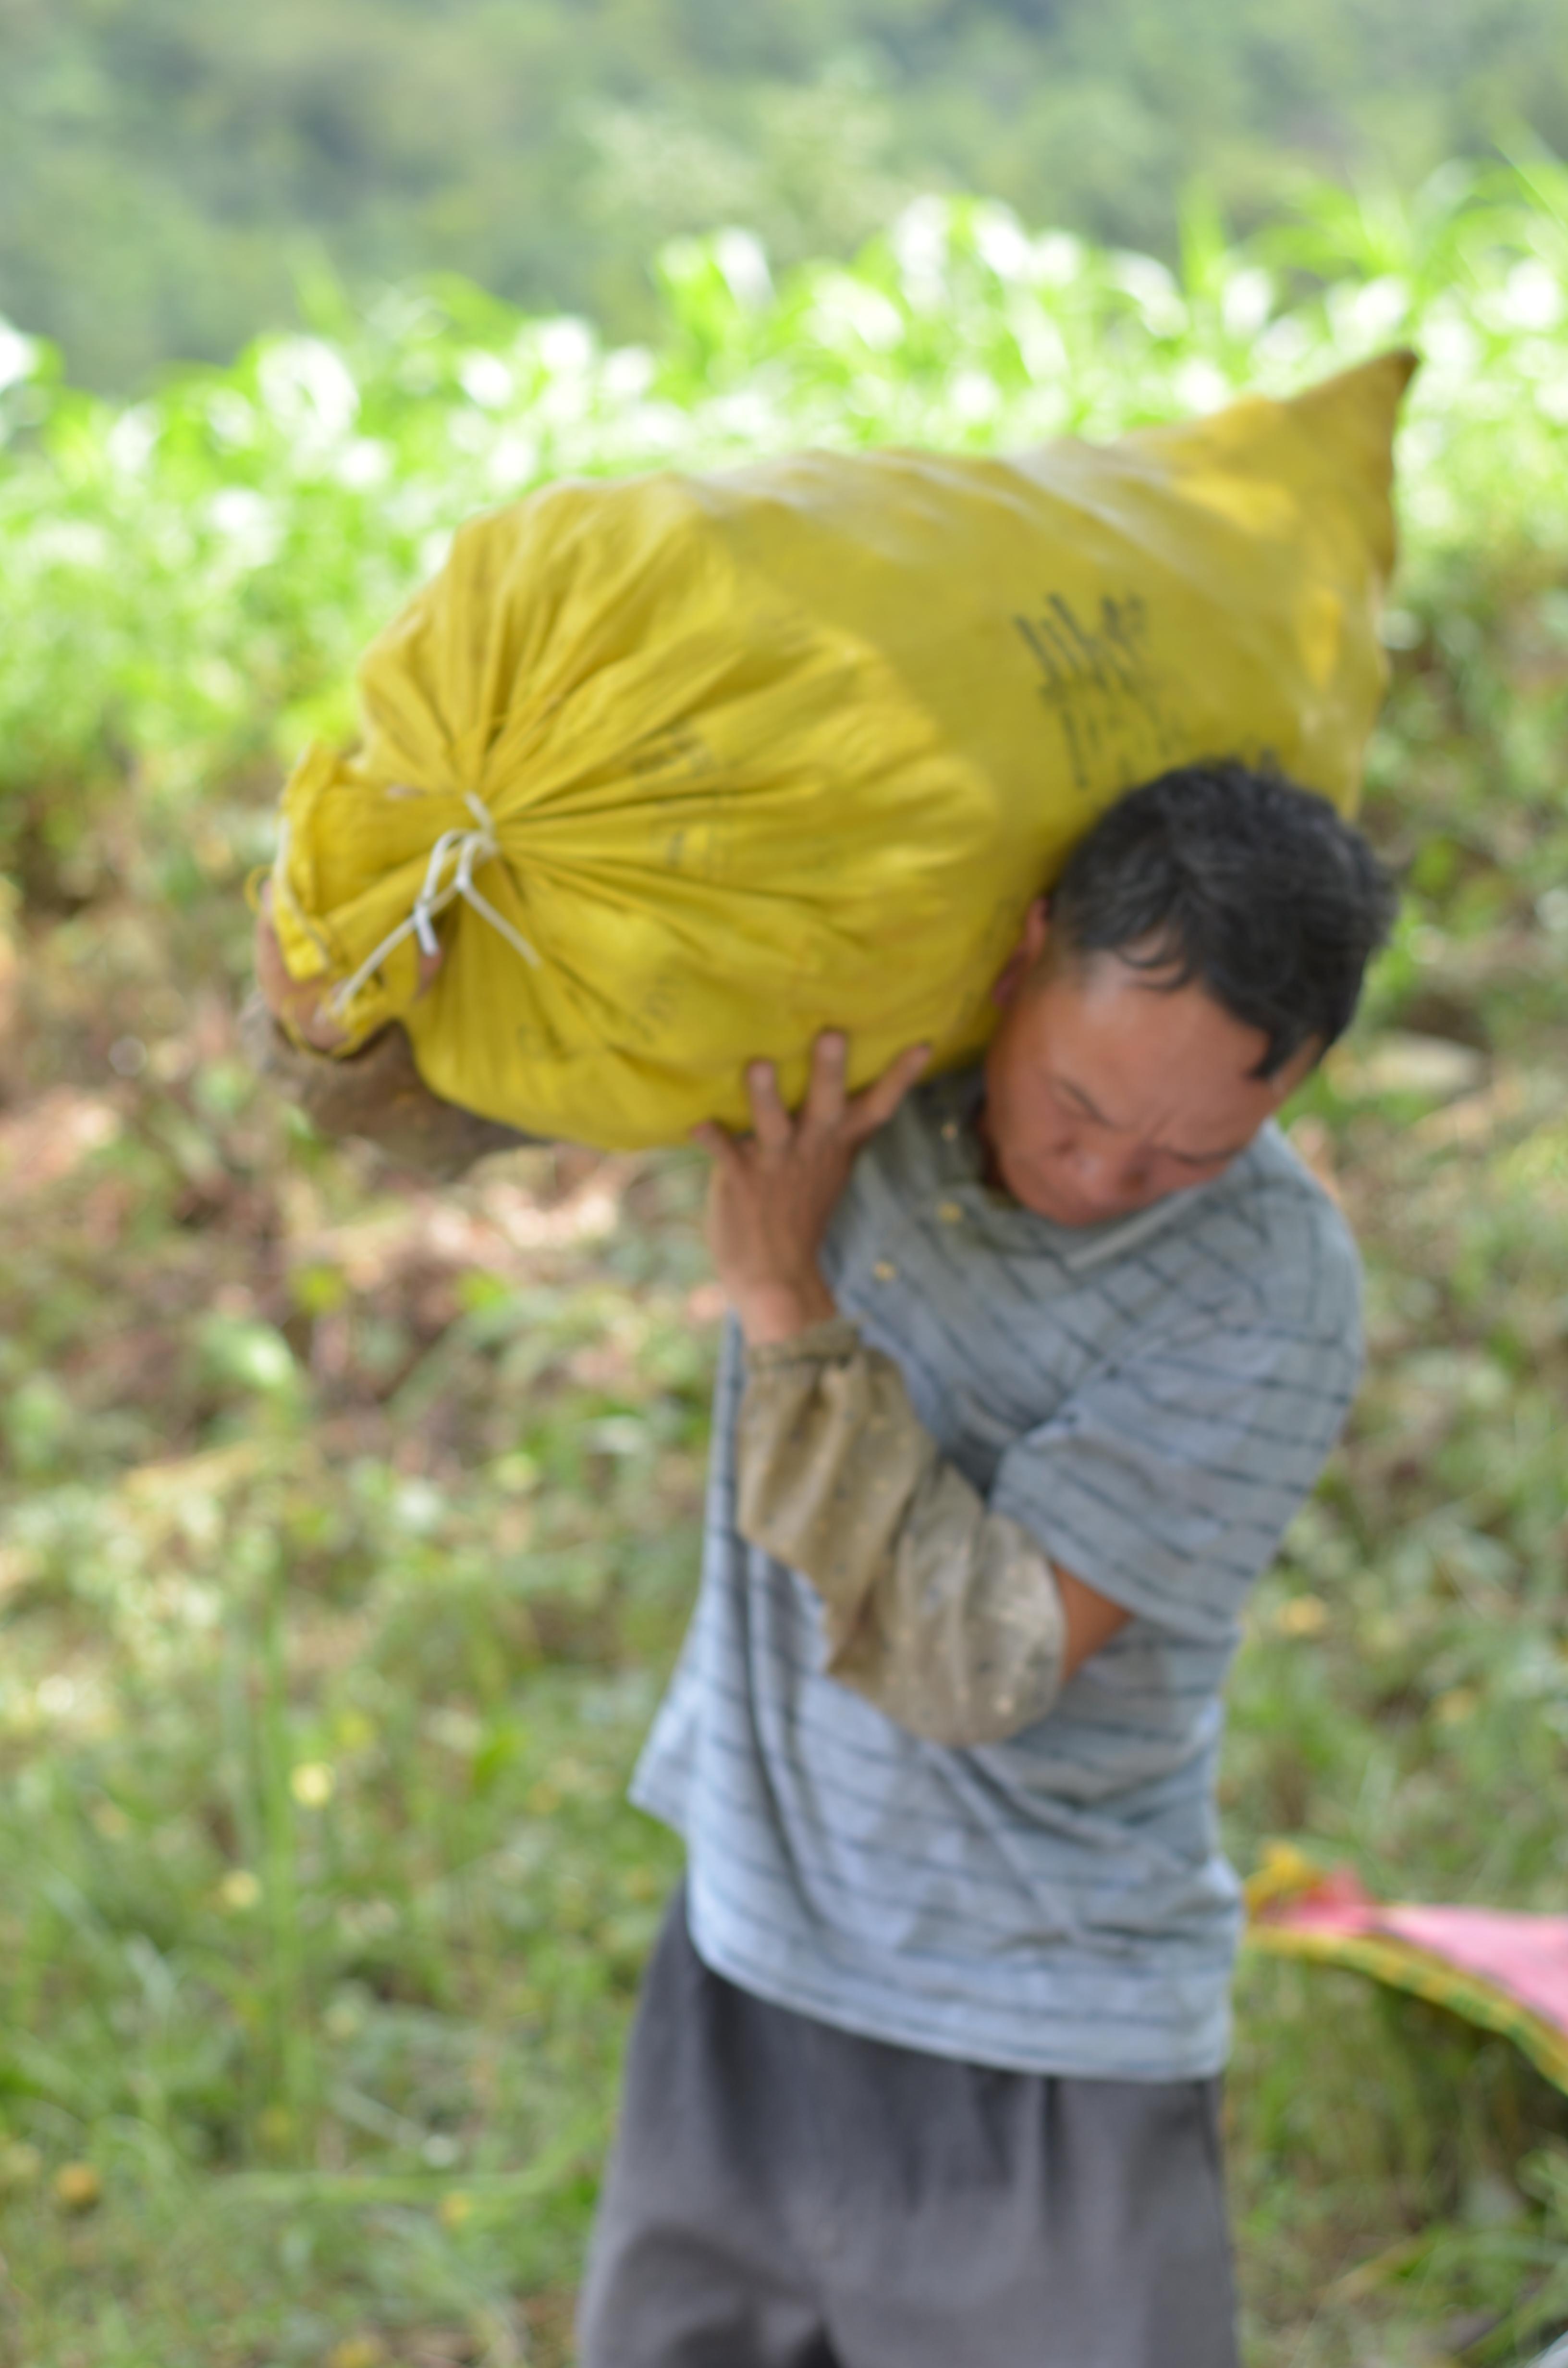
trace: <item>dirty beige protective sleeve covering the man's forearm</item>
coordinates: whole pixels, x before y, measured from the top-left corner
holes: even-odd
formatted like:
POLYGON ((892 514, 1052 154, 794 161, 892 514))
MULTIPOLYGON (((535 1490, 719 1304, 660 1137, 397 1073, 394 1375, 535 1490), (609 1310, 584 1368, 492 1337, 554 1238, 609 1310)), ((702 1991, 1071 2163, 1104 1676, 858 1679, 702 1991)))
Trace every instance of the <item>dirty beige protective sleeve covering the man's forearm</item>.
POLYGON ((746 1352, 739 1530, 822 1596, 827 1674, 912 1733, 997 1743, 1056 1700, 1049 1558, 938 1454, 898 1366, 841 1317, 746 1352))

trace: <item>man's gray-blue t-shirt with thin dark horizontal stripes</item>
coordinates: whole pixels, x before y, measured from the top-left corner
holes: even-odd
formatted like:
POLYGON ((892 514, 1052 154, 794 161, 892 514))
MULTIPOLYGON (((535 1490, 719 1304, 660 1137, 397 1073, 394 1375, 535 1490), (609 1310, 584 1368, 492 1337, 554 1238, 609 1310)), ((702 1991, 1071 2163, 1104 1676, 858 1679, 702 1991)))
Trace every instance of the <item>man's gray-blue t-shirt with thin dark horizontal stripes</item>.
POLYGON ((1052 1224, 983 1184, 978 1096, 966 1073, 905 1101, 824 1272, 943 1454, 1135 1617, 1007 1743, 924 1743, 822 1677, 810 1582, 734 1530, 732 1328, 632 1800, 687 1840, 699 1954, 760 1999, 1004 2070, 1206 2077, 1239 1932, 1220 1688, 1357 1383, 1357 1255, 1272 1125, 1215 1182, 1052 1224))

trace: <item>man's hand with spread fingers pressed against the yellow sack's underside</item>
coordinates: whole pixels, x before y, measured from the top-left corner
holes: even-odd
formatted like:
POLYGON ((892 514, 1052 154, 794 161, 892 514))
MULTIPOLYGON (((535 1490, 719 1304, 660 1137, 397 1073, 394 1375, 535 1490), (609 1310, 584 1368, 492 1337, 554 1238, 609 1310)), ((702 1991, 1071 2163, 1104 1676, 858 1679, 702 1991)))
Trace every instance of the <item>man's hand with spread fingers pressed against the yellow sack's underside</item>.
POLYGON ((772 1061, 746 1070, 746 1137, 706 1125, 694 1130, 713 1153, 708 1248, 746 1340, 789 1340, 834 1314, 817 1250, 855 1153, 905 1099, 931 1047, 914 1044, 876 1085, 848 1096, 848 1037, 824 1030, 812 1049, 810 1087, 796 1118, 779 1099, 772 1061))

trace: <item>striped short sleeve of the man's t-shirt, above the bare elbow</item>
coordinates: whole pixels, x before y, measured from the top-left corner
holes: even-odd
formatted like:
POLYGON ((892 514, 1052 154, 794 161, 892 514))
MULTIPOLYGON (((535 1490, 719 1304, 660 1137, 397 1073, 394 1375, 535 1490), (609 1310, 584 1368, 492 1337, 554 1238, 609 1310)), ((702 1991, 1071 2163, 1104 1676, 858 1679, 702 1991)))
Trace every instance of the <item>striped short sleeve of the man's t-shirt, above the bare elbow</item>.
POLYGON ((1234 1636, 1362 1371, 1355 1243, 1310 1205, 1291 1234, 1272 1272, 1184 1302, 1085 1381, 990 1492, 1085 1587, 1194 1643, 1234 1636))

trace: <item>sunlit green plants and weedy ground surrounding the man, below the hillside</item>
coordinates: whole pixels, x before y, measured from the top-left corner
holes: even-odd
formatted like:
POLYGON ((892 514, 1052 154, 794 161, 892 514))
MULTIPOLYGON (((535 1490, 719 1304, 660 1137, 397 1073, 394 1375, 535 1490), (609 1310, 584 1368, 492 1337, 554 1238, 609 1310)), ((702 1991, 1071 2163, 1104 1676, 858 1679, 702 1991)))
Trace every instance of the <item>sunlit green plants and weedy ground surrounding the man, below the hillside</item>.
MULTIPOLYGON (((0 343, 0 2361, 559 2363, 675 1873, 621 1785, 692 1591, 685 1156, 433 1196, 234 1042, 282 762, 476 504, 805 440, 1111 433, 1412 339, 1407 869, 1293 1113, 1371 1373, 1262 1584, 1232 1849, 1561 1906, 1568 175, 1322 192, 1180 272, 921 201, 853 265, 666 251, 647 348, 469 287, 135 405, 0 343)), ((322 301, 324 303, 324 301, 322 301)), ((1568 2112, 1497 2041, 1248 1961, 1253 2368, 1568 2325, 1568 2112)))

